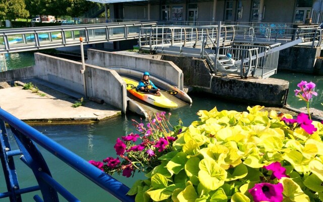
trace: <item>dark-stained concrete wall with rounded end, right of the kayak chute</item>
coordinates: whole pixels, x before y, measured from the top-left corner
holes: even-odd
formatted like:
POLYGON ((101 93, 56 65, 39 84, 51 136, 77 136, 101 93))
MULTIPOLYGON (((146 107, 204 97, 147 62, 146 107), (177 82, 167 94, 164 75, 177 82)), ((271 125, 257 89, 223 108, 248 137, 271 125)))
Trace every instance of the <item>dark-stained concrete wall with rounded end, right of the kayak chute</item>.
POLYGON ((233 102, 266 107, 282 107, 287 98, 289 82, 281 79, 240 79, 240 76, 212 76, 204 60, 164 55, 163 60, 173 61, 183 70, 185 85, 212 93, 233 102))

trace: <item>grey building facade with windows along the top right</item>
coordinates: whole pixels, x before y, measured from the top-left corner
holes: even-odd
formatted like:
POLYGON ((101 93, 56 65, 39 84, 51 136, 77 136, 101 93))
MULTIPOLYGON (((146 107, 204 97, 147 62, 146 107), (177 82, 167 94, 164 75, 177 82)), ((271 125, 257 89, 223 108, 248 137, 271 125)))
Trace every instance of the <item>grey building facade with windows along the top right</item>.
POLYGON ((320 24, 322 0, 90 0, 112 19, 320 24))

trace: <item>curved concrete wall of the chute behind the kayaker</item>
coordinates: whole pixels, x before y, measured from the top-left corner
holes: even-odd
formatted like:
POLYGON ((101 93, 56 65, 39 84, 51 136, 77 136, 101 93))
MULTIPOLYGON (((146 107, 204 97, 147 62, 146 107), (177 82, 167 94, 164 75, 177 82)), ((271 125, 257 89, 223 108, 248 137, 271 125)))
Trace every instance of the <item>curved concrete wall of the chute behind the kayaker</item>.
POLYGON ((104 52, 94 49, 87 49, 87 62, 99 67, 127 67, 141 72, 148 71, 156 78, 162 79, 167 83, 178 86, 183 90, 183 71, 173 62, 148 59, 125 53, 104 52))

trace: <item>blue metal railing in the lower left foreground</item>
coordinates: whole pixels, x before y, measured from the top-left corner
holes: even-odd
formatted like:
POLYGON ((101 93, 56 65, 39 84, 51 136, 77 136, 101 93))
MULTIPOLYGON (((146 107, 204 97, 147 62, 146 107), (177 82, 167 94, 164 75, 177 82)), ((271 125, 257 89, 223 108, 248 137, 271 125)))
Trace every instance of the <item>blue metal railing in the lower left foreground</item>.
POLYGON ((39 195, 34 196, 35 201, 59 201, 60 193, 68 201, 79 201, 72 193, 66 190, 55 179, 51 177, 49 168, 46 165, 40 151, 35 143, 49 151, 64 163, 75 169, 83 176, 102 189, 108 191, 121 201, 134 201, 133 196, 126 195, 129 187, 105 174, 98 168, 89 164, 86 160, 72 153, 64 146, 43 135, 28 124, 9 114, 0 108, 0 159, 7 183, 7 192, 0 193, 0 198, 9 197, 10 201, 22 201, 21 194, 40 190, 39 195), (19 146, 18 150, 11 150, 7 135, 7 123, 19 146), (38 185, 20 188, 13 156, 20 155, 20 160, 25 163, 34 173, 38 185))

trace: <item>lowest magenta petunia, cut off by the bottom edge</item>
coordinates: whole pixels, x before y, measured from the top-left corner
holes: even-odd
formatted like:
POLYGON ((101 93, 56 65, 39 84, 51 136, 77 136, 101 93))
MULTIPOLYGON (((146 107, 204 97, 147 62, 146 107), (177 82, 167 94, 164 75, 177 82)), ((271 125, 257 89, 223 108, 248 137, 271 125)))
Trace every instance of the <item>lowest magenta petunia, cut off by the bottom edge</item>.
POLYGON ((281 183, 260 183, 255 184, 253 188, 249 189, 254 202, 281 202, 283 201, 283 191, 284 187, 281 183))

